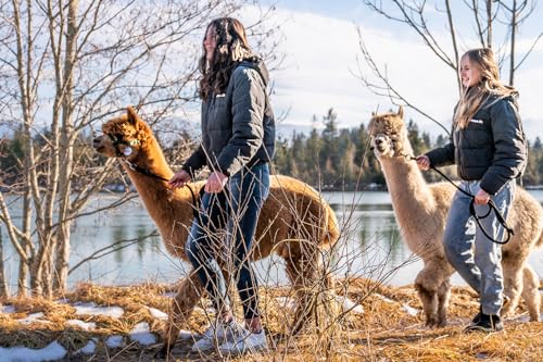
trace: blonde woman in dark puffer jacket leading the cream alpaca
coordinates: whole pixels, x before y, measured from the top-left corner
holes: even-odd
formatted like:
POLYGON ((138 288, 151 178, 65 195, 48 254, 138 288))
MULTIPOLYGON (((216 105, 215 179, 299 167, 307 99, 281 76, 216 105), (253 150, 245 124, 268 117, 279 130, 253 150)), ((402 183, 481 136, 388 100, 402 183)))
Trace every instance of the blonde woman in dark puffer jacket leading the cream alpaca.
POLYGON ((479 292, 480 310, 466 332, 503 329, 502 248, 505 228, 496 213, 484 215, 492 200, 504 217, 515 196, 516 178, 527 162, 526 136, 518 114, 518 92, 500 80, 489 48, 467 51, 460 60, 462 95, 456 104, 450 142, 417 157, 419 168, 456 164, 462 182, 444 233, 449 262, 479 292), (472 195, 473 197, 470 197, 472 195))

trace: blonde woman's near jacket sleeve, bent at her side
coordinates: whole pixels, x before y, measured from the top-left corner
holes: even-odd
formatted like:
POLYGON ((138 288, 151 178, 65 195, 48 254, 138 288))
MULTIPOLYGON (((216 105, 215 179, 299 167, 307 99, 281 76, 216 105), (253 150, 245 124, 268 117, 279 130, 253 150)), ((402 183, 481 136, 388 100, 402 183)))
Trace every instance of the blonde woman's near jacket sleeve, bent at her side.
POLYGON ((520 117, 509 100, 498 100, 490 109, 494 158, 481 178, 481 188, 496 194, 508 180, 521 175, 528 157, 520 117))

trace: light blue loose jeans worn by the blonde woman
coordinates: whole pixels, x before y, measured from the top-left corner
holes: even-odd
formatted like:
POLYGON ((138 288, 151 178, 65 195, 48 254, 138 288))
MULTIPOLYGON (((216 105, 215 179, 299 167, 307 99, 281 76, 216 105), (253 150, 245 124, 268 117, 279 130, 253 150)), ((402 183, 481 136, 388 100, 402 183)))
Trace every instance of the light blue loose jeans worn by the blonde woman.
MULTIPOLYGON (((479 180, 462 182, 459 187, 471 195, 480 189, 479 180)), ((507 217, 513 203, 515 188, 515 180, 510 180, 491 197, 504 217, 507 217)), ((498 314, 504 299, 502 248, 477 226, 469 213, 470 202, 471 198, 460 191, 454 195, 444 234, 445 254, 458 274, 479 292, 482 312, 498 314)), ((488 210, 488 205, 475 205, 477 215, 484 215, 488 210)), ((505 228, 494 212, 480 222, 494 240, 504 239, 505 228)))

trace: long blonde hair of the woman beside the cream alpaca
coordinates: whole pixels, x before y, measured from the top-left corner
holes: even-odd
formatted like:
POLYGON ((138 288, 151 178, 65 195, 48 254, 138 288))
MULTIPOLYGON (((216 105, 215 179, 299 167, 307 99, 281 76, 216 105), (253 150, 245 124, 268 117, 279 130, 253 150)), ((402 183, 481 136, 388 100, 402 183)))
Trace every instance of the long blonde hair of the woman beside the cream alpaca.
POLYGON ((477 66, 481 73, 481 80, 473 87, 463 87, 462 89, 460 100, 458 101, 454 115, 454 122, 460 128, 467 127, 469 121, 489 97, 494 96, 497 101, 502 98, 518 93, 515 88, 506 86, 500 80, 500 70, 494 60, 494 52, 492 49, 471 49, 462 55, 463 59, 465 57, 467 57, 471 66, 477 66))

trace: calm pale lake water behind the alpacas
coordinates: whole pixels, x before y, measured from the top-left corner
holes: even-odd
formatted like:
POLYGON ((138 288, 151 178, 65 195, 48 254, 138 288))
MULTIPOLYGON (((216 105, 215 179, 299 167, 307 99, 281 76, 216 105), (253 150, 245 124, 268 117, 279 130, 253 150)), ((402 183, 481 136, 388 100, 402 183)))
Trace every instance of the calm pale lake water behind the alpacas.
MULTIPOLYGON (((543 202, 543 191, 531 194, 543 202)), ((359 275, 392 285, 414 282, 422 263, 400 238, 390 197, 387 192, 324 192, 341 224, 342 238, 332 251, 332 271, 338 276, 359 275)), ((116 195, 98 195, 89 208, 105 205, 116 195)), ((174 282, 187 274, 188 265, 169 257, 160 236, 146 237, 155 230, 146 209, 136 199, 108 212, 79 219, 73 227, 71 266, 93 252, 119 240, 131 240, 110 253, 85 262, 70 275, 70 285, 92 282, 127 285, 141 282, 174 282)), ((7 277, 15 289, 16 255, 2 227, 7 277)), ((543 250, 532 252, 530 264, 543 277, 543 250)), ((256 263, 261 283, 287 283, 282 262, 268 258, 256 263)), ((453 284, 463 285, 455 274, 453 284)))

